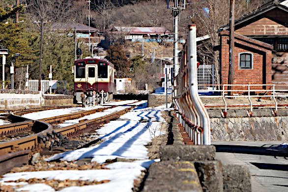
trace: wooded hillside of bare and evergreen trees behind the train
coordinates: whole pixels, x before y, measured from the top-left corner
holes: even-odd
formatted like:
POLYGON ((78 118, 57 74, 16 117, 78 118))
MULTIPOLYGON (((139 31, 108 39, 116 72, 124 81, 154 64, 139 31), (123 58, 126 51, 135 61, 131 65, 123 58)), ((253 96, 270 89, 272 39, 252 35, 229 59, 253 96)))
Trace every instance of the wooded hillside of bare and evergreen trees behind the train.
MULTIPOLYGON (((198 36, 210 35, 209 45, 218 44, 217 30, 220 26, 229 23, 229 0, 186 0, 186 10, 181 11, 179 20, 180 38, 186 38, 187 25, 196 23, 198 36), (203 9, 205 8, 205 9, 203 9), (205 10, 209 10, 207 11, 205 10)), ((262 0, 250 0, 246 7, 246 0, 237 0, 235 5, 235 16, 239 18, 244 13, 249 13, 258 8, 262 0)), ((20 53, 16 59, 15 88, 24 89, 26 66, 29 65, 29 79, 38 79, 39 58, 40 58, 40 26, 34 21, 48 21, 43 30, 43 58, 42 72, 48 77, 49 66, 52 65, 53 79, 66 80, 67 88, 72 93, 73 75, 71 67, 74 62, 74 36, 72 31, 52 30, 52 26, 57 23, 79 23, 88 24, 88 3, 86 0, 19 0, 20 6, 12 8, 16 0, 0 0, 0 44, 9 49, 6 58, 6 85, 9 87, 10 74, 9 65, 11 55, 20 53), (22 6, 27 4, 28 6, 22 6), (15 13, 19 12, 19 22, 15 24, 15 13)), ((165 27, 173 31, 172 11, 167 9, 166 0, 91 0, 91 26, 103 31, 104 36, 114 26, 134 26, 134 27, 165 27)), ((111 37, 110 37, 111 38, 111 37)), ((122 37, 113 37, 122 38, 122 37)), ((82 46, 84 56, 89 55, 87 48, 82 46)), ((129 42, 113 41, 116 50, 121 50, 125 55, 130 51, 129 42)), ((153 45, 154 46, 154 45, 153 45)), ((159 44, 159 46, 161 46, 159 44)), ((167 45, 166 45, 167 46, 167 45)), ((163 47, 161 47, 162 50, 163 47)), ((139 48, 140 49, 140 48, 139 48)), ((210 47, 206 49, 213 51, 210 47)), ((136 50, 136 48, 135 48, 136 50)), ((112 53, 113 50, 108 51, 112 53)), ((200 50, 201 51, 201 50, 200 50)), ((160 49, 159 51, 160 52, 160 49)), ((172 53, 172 50, 171 50, 172 53)), ((136 52, 135 54, 140 54, 136 52)), ((149 51, 148 53, 149 54, 149 51)), ((218 62, 218 55, 213 53, 213 60, 218 62)), ((137 56, 137 55, 136 55, 137 56)), ((162 56, 162 55, 161 55, 162 56)), ((165 55, 163 55, 165 56, 165 55)), ((111 58, 115 59, 115 58, 111 58)), ((123 56, 123 60, 125 58, 123 56)), ((139 62, 135 57, 125 63, 123 74, 125 77, 138 77, 141 81, 146 81, 147 76, 141 76, 143 69, 147 66, 139 62), (136 69, 135 66, 139 68, 136 69), (127 68, 128 67, 128 68, 127 68), (132 70, 134 69, 134 71, 132 70)), ((121 61, 119 61, 121 62, 121 61)), ((120 65, 119 63, 118 65, 120 65)), ((157 72, 155 72, 157 73, 157 72)), ((153 75, 155 77, 155 74, 153 75)), ((47 79, 47 78, 46 78, 47 79)), ((217 79, 217 78, 216 78, 217 79)), ((148 80, 147 80, 148 81, 148 80)))

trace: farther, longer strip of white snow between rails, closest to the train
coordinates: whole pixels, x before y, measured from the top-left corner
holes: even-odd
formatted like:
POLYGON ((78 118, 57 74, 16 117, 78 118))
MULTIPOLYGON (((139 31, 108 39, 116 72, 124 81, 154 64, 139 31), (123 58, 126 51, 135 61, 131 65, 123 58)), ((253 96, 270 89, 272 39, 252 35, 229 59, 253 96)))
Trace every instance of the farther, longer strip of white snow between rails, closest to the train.
POLYGON ((37 119, 42 119, 42 118, 49 118, 49 117, 54 117, 54 116, 59 116, 59 115, 65 115, 65 114, 70 114, 70 113, 75 113, 75 112, 81 112, 83 110, 94 110, 98 108, 105 108, 107 106, 115 106, 115 105, 126 105, 129 103, 133 103, 137 100, 127 100, 127 101, 120 101, 120 102, 112 102, 110 104, 104 104, 104 105, 98 105, 98 106, 92 106, 89 107, 88 105, 86 108, 81 108, 81 107, 74 107, 74 108, 65 108, 65 109, 57 109, 57 110, 43 110, 39 112, 31 112, 22 115, 23 117, 37 120, 37 119))

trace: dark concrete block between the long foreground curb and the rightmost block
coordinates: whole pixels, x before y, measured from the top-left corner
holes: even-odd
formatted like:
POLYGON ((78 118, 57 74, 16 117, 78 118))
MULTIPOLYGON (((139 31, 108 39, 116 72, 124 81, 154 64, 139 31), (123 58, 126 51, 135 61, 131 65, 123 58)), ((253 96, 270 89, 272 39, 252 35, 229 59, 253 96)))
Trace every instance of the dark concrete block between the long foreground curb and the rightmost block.
POLYGON ((222 165, 219 161, 195 162, 203 192, 223 192, 222 165))

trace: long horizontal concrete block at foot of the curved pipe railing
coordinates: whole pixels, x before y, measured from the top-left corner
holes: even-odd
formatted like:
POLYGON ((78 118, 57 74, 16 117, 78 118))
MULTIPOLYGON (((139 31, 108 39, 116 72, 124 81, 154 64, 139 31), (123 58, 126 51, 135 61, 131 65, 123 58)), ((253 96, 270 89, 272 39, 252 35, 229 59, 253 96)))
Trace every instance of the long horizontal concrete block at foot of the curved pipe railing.
POLYGON ((213 161, 214 145, 166 145, 160 147, 161 161, 213 161))

